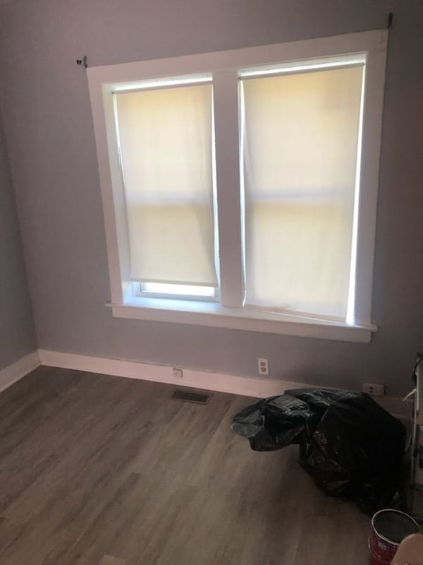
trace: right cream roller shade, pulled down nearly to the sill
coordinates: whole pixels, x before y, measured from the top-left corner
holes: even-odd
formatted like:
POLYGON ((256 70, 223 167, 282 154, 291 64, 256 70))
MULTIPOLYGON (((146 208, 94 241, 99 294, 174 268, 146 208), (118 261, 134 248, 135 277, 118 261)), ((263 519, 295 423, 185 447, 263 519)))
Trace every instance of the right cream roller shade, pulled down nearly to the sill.
POLYGON ((242 81, 247 304, 345 320, 362 76, 242 81))

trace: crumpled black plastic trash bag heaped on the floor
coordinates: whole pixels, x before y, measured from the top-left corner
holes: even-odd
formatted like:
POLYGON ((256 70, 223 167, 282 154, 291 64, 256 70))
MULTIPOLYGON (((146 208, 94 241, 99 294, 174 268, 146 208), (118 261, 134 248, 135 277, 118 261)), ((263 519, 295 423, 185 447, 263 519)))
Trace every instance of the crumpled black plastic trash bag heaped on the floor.
POLYGON ((405 427, 366 394, 287 391, 238 412, 232 429, 255 451, 299 444, 299 463, 317 486, 366 513, 398 495, 405 427))

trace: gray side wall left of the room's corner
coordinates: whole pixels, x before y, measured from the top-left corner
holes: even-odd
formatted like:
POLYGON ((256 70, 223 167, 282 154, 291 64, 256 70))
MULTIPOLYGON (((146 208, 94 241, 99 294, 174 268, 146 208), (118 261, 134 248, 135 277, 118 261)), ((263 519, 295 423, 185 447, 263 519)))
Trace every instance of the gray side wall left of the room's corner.
POLYGON ((0 370, 36 348, 18 215, 0 114, 0 370))

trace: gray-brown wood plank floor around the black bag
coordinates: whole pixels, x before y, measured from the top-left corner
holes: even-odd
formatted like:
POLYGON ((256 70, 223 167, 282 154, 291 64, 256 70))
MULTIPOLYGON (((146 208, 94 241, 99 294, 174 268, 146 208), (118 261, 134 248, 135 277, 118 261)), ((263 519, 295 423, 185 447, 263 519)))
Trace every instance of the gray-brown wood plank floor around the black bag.
POLYGON ((250 398, 40 367, 0 395, 1 565, 363 565, 369 518, 294 446, 231 432, 250 398))

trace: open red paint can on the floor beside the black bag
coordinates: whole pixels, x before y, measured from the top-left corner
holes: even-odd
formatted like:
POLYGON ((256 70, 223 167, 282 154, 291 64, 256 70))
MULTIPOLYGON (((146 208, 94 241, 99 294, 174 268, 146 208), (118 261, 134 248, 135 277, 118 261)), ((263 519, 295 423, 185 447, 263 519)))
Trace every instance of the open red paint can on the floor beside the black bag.
POLYGON ((369 535, 370 565, 389 565, 403 539, 418 532, 417 522, 404 512, 391 509, 376 512, 369 535))

